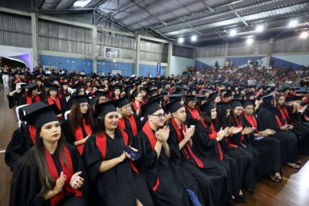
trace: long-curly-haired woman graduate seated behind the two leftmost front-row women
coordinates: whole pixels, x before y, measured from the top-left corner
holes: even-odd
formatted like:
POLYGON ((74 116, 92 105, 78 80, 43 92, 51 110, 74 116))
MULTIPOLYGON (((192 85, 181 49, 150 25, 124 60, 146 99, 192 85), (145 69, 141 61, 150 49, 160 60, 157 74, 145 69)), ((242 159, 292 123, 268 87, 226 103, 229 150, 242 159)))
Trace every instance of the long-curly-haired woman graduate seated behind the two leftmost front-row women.
POLYGON ((87 95, 75 95, 72 102, 69 118, 62 122, 61 128, 69 144, 76 146, 82 155, 84 142, 95 133, 95 121, 90 110, 87 95))

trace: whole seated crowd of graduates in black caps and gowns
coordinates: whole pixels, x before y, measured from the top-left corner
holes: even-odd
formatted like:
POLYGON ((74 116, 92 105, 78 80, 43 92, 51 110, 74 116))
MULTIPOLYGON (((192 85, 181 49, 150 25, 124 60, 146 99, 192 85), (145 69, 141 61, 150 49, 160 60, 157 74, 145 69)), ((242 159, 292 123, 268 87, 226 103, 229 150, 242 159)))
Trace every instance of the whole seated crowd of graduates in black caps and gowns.
POLYGON ((282 165, 297 172, 309 155, 307 78, 3 71, 8 106, 27 104, 5 150, 10 206, 246 203, 244 191, 279 184, 282 165))

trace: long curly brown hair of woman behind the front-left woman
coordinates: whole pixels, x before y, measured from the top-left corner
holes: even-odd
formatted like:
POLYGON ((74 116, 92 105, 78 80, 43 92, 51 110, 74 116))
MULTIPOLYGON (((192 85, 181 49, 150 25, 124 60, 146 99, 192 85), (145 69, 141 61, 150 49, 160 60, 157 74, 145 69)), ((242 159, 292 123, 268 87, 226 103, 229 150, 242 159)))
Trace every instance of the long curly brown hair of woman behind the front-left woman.
POLYGON ((71 133, 75 133, 75 130, 80 126, 80 124, 82 123, 82 117, 84 117, 87 125, 90 125, 92 129, 95 128, 95 122, 93 120, 90 107, 88 108, 87 113, 83 114, 80 111, 80 104, 73 104, 73 106, 71 107, 71 113, 69 115, 69 119, 71 121, 71 133))

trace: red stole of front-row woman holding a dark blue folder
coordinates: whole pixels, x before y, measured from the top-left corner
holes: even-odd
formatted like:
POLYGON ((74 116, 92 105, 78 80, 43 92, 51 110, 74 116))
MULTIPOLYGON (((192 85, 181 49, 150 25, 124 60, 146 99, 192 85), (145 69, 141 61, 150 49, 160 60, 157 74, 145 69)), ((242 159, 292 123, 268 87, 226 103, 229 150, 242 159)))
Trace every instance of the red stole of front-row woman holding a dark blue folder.
MULTIPOLYGON (((120 133, 122 134, 122 138, 124 139, 124 145, 128 146, 128 134, 122 130, 119 129, 120 133)), ((102 159, 104 160, 106 157, 106 134, 105 133, 97 133, 95 145, 99 148, 102 159)), ((133 161, 130 160, 130 166, 134 172, 139 174, 139 170, 137 170, 137 167, 133 164, 133 161)))

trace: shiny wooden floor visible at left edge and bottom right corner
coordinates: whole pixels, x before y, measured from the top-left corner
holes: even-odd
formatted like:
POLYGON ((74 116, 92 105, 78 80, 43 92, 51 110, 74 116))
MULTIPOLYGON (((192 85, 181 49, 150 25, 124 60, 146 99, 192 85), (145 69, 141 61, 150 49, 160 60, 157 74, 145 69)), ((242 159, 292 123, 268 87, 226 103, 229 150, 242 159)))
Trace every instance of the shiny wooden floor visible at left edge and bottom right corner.
MULTIPOLYGON (((4 152, 13 131, 17 128, 15 110, 8 108, 8 89, 0 87, 0 206, 8 205, 12 174, 4 163, 4 152)), ((247 205, 309 205, 309 157, 301 156, 301 170, 283 167, 284 181, 274 183, 268 179, 256 184, 255 194, 247 195, 247 205)), ((21 205, 22 206, 22 205, 21 205)))

